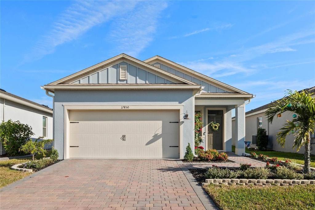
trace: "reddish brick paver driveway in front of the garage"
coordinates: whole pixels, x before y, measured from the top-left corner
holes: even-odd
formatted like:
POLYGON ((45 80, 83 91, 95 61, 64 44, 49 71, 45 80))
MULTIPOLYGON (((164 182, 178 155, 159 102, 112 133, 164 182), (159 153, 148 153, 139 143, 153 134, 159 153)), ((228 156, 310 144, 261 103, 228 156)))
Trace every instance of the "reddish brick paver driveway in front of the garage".
POLYGON ((205 209, 180 165, 161 159, 68 159, 1 189, 1 210, 205 209))

